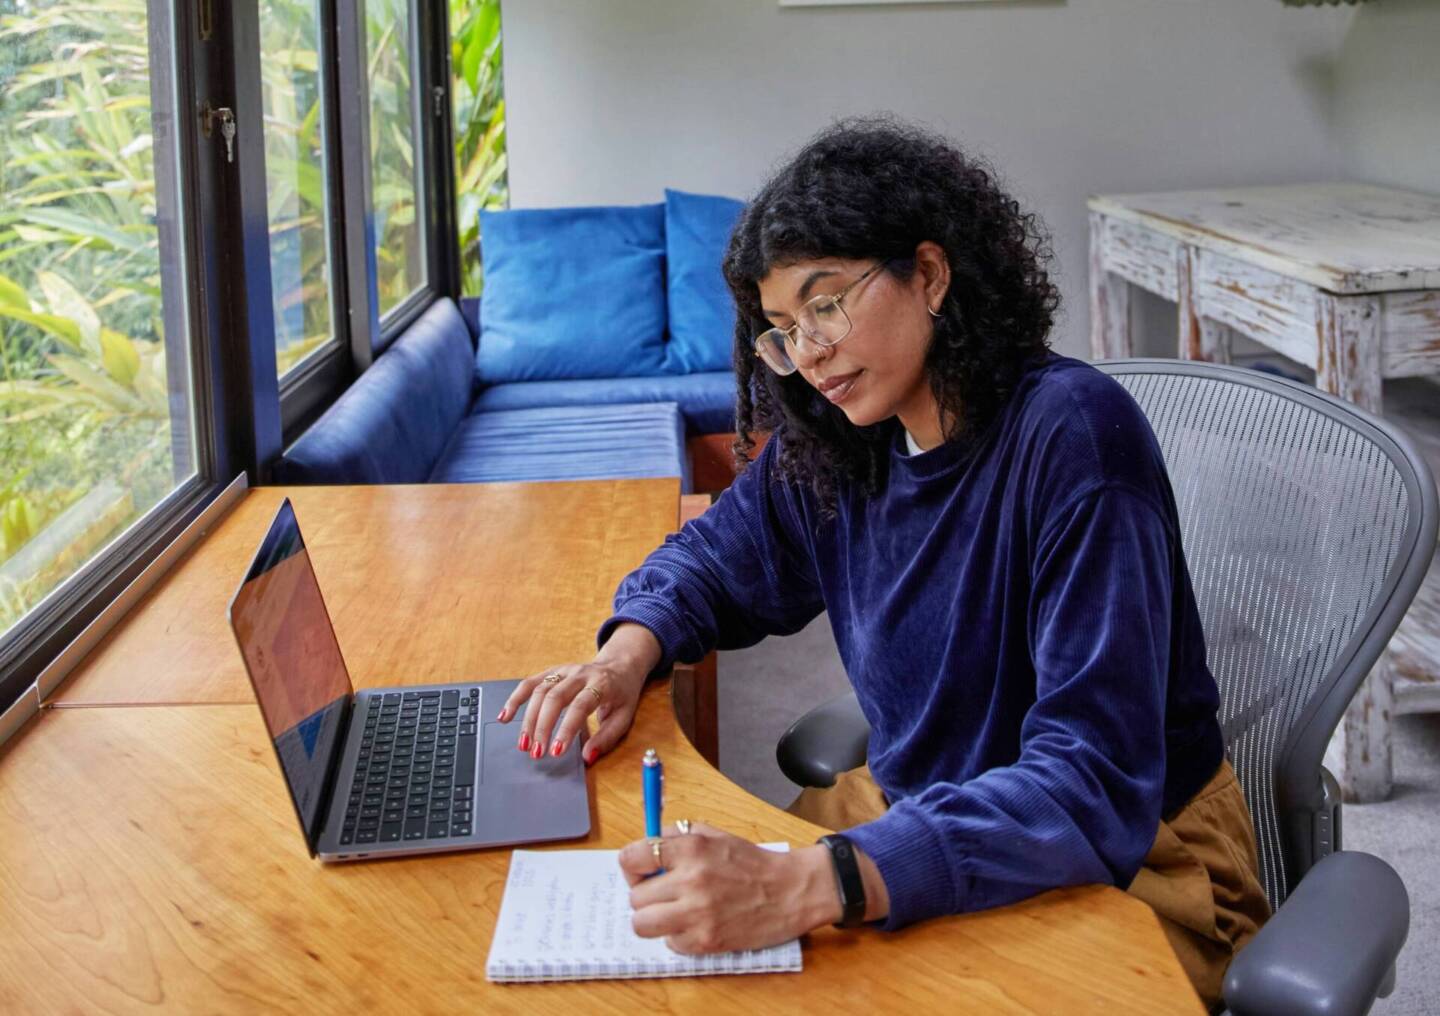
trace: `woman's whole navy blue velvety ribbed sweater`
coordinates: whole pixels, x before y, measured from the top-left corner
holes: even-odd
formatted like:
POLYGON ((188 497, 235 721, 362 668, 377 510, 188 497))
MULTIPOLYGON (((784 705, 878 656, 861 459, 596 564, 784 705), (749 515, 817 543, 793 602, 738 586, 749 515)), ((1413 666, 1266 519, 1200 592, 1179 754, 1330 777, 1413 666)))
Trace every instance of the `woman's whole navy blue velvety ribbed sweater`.
POLYGON ((615 596, 662 666, 829 612, 891 802, 848 830, 890 892, 886 927, 1061 885, 1125 888, 1162 816, 1224 754, 1218 694, 1145 416, 1050 355, 969 442, 906 455, 876 496, 775 475, 772 440, 615 596))

